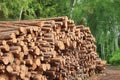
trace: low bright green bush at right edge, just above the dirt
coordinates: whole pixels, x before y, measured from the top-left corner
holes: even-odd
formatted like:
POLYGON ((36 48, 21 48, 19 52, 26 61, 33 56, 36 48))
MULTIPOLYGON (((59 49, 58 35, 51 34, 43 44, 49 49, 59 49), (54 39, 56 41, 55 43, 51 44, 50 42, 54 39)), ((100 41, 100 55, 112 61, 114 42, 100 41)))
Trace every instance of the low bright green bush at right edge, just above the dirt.
POLYGON ((113 56, 110 58, 110 63, 120 66, 120 50, 117 50, 113 53, 113 56))

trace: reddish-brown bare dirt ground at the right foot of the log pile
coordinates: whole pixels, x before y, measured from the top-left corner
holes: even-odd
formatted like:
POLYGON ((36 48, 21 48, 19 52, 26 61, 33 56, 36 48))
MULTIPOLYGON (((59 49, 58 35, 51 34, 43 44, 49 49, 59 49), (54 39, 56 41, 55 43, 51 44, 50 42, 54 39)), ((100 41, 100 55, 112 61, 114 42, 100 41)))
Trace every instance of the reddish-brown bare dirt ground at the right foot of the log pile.
POLYGON ((104 73, 93 76, 90 80, 120 80, 120 67, 107 66, 104 73))

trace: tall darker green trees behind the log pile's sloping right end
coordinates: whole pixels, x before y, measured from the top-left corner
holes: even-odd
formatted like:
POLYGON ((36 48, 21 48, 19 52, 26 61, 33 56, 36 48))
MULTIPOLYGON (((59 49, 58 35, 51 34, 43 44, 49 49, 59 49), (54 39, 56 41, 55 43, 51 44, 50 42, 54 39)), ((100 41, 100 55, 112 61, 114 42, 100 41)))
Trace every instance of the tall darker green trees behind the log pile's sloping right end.
POLYGON ((77 24, 90 26, 97 41, 99 55, 108 61, 120 46, 118 7, 120 0, 77 0, 73 12, 73 19, 77 24))

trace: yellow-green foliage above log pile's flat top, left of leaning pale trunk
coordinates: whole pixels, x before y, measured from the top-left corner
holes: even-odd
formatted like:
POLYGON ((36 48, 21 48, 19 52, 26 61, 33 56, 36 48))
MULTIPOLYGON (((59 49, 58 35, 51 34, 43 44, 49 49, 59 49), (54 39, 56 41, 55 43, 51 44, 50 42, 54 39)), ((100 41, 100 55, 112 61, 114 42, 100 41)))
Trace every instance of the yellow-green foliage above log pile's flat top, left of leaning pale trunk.
POLYGON ((2 0, 0 20, 69 16, 70 0, 2 0))

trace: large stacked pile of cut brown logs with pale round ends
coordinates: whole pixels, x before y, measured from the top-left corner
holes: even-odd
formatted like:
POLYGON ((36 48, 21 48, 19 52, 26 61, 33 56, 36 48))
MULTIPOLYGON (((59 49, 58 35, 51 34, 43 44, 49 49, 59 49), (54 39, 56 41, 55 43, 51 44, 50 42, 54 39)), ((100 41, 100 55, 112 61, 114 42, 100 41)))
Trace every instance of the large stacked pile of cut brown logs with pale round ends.
POLYGON ((0 22, 0 80, 87 80, 105 69, 90 29, 68 17, 0 22))

